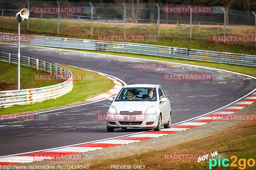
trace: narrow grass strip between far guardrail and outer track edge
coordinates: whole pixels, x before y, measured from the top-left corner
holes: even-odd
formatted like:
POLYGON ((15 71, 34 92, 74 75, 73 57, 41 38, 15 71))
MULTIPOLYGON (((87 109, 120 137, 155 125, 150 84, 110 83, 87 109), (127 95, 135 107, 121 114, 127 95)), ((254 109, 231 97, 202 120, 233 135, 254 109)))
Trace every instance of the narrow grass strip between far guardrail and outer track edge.
MULTIPOLYGON (((69 49, 69 50, 77 50, 77 49, 69 49)), ((157 57, 157 56, 129 54, 129 53, 116 53, 116 52, 91 51, 91 50, 77 50, 77 51, 103 53, 103 54, 119 55, 119 56, 126 56, 126 57, 150 59, 150 60, 178 62, 178 63, 184 63, 184 64, 193 64, 193 65, 198 65, 198 66, 212 67, 212 68, 218 68, 218 69, 233 71, 233 72, 247 74, 247 75, 251 75, 251 76, 256 77, 255 67, 249 67, 249 66, 240 66, 240 65, 233 65, 233 64, 220 64, 220 63, 212 63, 212 62, 205 62, 205 61, 194 61, 194 60, 182 60, 182 59, 174 59, 174 58, 167 58, 167 57, 157 57)))

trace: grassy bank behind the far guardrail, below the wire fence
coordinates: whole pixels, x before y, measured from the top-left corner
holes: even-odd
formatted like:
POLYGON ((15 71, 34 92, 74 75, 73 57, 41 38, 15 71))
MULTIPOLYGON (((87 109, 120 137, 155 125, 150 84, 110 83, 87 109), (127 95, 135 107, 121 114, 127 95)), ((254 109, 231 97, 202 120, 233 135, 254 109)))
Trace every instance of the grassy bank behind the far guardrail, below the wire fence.
MULTIPOLYGON (((56 37, 68 37, 79 39, 96 39, 98 34, 123 34, 123 25, 118 25, 115 28, 115 23, 100 23, 98 28, 97 22, 93 23, 93 36, 91 36, 91 25, 88 22, 80 21, 79 26, 77 21, 62 20, 60 25, 60 32, 57 35, 57 20, 43 19, 42 23, 40 19, 29 19, 29 32, 27 32, 27 21, 21 22, 21 33, 34 34, 44 36, 56 36, 56 37)), ((126 34, 146 34, 157 35, 156 24, 144 24, 139 25, 138 28, 131 23, 127 23, 126 34)), ((171 25, 170 25, 171 26, 171 25)), ((160 36, 156 42, 142 42, 145 44, 162 45, 182 47, 189 49, 201 49, 210 51, 230 52, 230 53, 242 53, 256 55, 255 43, 214 43, 211 41, 211 36, 216 34, 224 34, 224 29, 219 28, 217 33, 216 25, 213 27, 201 25, 201 31, 198 31, 198 25, 192 27, 192 39, 190 39, 188 25, 180 26, 179 30, 168 27, 161 28, 160 36), (168 28, 168 29, 167 29, 168 28)), ((173 27, 173 26, 172 26, 173 27)), ((242 26, 238 27, 239 35, 254 35, 254 28, 245 29, 242 26)), ((4 17, 0 19, 0 32, 17 33, 17 21, 15 18, 4 17)), ((235 34, 234 29, 231 30, 227 27, 227 35, 235 34)))

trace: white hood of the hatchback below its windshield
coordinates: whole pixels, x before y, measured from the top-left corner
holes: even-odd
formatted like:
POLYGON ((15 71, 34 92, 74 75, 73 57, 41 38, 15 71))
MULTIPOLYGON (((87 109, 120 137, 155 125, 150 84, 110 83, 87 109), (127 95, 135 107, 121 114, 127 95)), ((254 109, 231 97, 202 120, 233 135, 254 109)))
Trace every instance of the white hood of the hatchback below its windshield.
POLYGON ((156 101, 119 101, 112 103, 112 106, 116 108, 117 113, 120 111, 142 111, 145 113, 149 107, 155 106, 156 101))

